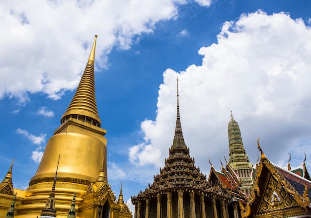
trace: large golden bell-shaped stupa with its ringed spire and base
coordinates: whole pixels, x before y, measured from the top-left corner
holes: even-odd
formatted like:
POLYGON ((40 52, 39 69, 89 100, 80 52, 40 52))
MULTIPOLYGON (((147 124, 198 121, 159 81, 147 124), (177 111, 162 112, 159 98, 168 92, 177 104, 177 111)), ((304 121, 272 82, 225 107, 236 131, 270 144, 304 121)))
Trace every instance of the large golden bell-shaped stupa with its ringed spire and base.
MULTIPOLYGON (((77 91, 61 118, 60 127, 49 139, 29 187, 13 188, 13 162, 0 184, 0 217, 8 212, 16 192, 15 212, 10 213, 15 218, 132 217, 123 200, 115 202, 107 181, 106 130, 100 128, 95 99, 96 38, 77 91), (102 209, 100 214, 99 209, 102 209)), ((122 192, 120 197, 123 199, 122 192)))

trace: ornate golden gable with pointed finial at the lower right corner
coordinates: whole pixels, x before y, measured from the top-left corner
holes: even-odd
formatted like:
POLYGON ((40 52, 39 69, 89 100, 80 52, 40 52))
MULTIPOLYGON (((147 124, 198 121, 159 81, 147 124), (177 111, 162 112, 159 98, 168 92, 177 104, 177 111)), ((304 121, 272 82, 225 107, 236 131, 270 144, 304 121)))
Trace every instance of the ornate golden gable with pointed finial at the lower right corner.
POLYGON ((246 206, 244 207, 240 203, 242 217, 268 218, 310 215, 308 212, 310 200, 306 184, 299 183, 304 187, 303 194, 300 194, 282 175, 281 168, 271 163, 264 155, 259 145, 259 138, 257 145, 261 151, 261 158, 256 167, 255 179, 246 206))

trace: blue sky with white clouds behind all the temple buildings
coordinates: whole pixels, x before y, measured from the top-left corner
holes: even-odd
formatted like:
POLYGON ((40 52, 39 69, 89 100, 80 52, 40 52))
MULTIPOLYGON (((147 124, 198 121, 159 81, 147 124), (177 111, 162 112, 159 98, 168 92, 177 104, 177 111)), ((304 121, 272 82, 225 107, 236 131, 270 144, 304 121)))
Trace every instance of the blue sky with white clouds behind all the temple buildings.
MULTIPOLYGON (((230 111, 255 163, 311 162, 308 0, 107 0, 0 3, 0 176, 24 189, 60 125, 95 34, 96 100, 108 182, 125 199, 168 156, 179 77, 181 124, 196 166, 228 156, 230 111), (151 3, 152 2, 152 3, 151 3)), ((224 162, 224 161, 223 161, 224 162)))

